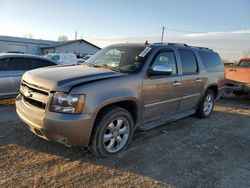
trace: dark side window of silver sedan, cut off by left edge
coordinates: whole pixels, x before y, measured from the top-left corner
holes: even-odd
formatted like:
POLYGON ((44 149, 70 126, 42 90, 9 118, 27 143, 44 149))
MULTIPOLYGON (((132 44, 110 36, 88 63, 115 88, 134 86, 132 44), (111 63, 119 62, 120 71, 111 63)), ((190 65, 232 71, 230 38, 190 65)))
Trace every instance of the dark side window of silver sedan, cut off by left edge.
POLYGON ((20 58, 0 59, 0 71, 20 71, 24 70, 20 58))

